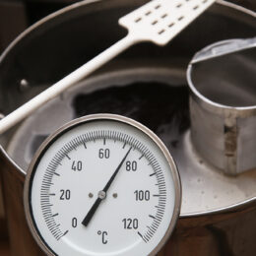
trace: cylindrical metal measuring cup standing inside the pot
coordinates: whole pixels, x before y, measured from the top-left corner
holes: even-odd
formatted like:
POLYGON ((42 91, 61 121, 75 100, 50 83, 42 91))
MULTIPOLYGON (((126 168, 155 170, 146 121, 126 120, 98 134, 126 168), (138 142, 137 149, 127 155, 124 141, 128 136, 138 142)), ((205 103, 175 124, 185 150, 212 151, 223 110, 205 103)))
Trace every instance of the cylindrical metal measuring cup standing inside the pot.
POLYGON ((197 152, 225 174, 256 169, 256 37, 204 48, 187 80, 197 152))

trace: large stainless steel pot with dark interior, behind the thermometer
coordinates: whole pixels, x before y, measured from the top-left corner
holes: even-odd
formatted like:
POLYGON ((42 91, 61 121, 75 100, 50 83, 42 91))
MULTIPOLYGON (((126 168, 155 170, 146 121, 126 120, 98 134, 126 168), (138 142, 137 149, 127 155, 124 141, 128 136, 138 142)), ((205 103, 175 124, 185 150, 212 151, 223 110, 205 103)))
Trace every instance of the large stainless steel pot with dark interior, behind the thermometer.
MULTIPOLYGON (((116 21, 144 2, 80 2, 21 34, 0 59, 1 112, 9 113, 121 38, 125 31, 116 21)), ((4 134, 0 168, 12 254, 40 255, 22 200, 26 170, 38 145, 74 117, 108 111, 149 126, 177 162, 183 187, 181 216, 160 255, 254 255, 255 174, 225 177, 194 151, 185 71, 194 53, 206 45, 250 37, 255 29, 254 13, 218 2, 166 47, 132 47, 4 134)))

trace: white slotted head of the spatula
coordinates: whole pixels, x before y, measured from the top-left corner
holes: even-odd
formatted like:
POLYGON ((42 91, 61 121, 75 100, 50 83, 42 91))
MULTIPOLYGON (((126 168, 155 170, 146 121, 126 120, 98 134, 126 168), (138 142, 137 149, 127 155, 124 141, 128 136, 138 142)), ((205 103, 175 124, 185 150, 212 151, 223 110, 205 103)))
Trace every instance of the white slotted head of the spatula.
POLYGON ((165 45, 215 0, 154 0, 119 19, 135 40, 165 45))

